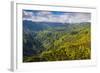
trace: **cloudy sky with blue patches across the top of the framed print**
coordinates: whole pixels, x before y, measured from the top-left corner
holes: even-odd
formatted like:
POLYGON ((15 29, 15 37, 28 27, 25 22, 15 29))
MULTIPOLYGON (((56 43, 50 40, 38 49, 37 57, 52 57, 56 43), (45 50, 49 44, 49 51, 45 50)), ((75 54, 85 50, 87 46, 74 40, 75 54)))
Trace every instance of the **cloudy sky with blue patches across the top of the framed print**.
POLYGON ((90 22, 91 14, 85 12, 23 10, 22 19, 32 22, 81 23, 90 22))

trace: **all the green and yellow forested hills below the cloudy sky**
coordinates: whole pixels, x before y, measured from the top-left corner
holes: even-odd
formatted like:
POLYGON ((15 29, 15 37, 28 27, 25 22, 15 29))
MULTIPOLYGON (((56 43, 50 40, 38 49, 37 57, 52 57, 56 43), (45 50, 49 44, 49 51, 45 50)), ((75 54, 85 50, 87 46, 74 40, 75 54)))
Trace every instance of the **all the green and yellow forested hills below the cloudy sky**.
POLYGON ((23 62, 91 58, 91 25, 23 20, 23 62))

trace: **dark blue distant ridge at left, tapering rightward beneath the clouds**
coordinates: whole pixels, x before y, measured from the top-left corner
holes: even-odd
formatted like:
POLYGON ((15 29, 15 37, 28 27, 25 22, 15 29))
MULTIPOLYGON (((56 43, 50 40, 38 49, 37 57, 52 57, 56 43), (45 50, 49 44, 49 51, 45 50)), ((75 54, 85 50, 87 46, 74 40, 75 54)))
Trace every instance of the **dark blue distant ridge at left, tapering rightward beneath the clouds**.
MULTIPOLYGON (((66 23, 69 24, 69 23, 66 23)), ((48 28, 54 28, 54 27, 64 27, 66 24, 64 23, 55 23, 55 22, 32 22, 32 21, 23 21, 23 27, 24 30, 45 30, 48 28)))

